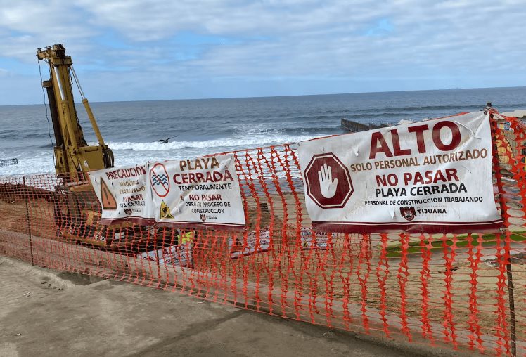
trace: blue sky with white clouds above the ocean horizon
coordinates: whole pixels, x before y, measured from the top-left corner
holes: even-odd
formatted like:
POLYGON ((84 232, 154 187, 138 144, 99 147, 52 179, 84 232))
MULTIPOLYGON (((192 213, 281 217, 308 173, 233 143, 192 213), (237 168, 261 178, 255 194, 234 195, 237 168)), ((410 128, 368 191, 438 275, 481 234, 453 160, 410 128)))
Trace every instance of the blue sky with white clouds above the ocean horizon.
POLYGON ((0 0, 0 105, 58 43, 97 102, 526 86, 525 34, 526 0, 0 0))

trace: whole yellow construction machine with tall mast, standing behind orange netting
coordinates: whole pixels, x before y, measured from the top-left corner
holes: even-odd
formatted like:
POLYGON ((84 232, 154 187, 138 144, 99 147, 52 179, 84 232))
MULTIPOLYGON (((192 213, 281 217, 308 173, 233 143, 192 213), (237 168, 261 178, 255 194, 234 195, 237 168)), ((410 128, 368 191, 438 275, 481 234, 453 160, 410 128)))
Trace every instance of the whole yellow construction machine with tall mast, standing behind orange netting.
POLYGON ((145 234, 147 227, 98 224, 101 209, 87 173, 113 167, 113 152, 104 143, 71 57, 66 56, 63 44, 55 44, 39 48, 37 58, 49 67, 49 79, 44 80, 42 86, 47 91, 56 141, 53 152, 59 184, 53 196, 53 213, 58 237, 110 249, 122 250, 122 245, 126 245, 130 252, 137 252, 142 238, 148 235, 145 234), (79 89, 97 145, 89 145, 84 139, 73 98, 73 83, 79 89))

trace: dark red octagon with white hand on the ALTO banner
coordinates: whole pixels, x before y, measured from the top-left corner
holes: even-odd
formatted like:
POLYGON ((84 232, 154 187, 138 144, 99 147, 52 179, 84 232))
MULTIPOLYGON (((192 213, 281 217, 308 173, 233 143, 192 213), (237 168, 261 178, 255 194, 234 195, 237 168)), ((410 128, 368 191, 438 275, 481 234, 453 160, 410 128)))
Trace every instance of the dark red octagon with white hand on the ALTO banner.
POLYGON ((342 208, 354 192, 349 170, 332 152, 314 155, 304 177, 307 195, 321 208, 342 208))

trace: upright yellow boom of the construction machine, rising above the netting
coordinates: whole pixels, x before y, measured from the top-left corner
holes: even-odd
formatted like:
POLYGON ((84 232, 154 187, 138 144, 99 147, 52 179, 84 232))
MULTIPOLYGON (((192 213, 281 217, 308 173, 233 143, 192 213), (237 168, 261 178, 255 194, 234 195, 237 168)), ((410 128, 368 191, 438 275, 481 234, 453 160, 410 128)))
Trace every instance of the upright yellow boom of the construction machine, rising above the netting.
POLYGON ((37 58, 49 65, 49 80, 42 82, 46 88, 51 109, 55 146, 53 148, 56 173, 65 181, 79 181, 88 177, 87 172, 113 167, 113 152, 103 141, 101 132, 84 98, 73 62, 65 55, 63 44, 55 44, 37 50, 37 58), (79 87, 82 103, 96 134, 98 145, 88 145, 79 124, 73 98, 73 79, 79 87))

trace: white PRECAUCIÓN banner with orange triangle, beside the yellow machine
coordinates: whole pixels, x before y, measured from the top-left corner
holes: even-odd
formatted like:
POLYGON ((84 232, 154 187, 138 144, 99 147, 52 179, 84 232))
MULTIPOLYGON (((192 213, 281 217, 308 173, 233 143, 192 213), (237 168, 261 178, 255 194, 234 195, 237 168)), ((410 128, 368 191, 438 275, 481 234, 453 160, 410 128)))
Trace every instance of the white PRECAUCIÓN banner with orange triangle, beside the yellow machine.
POLYGON ((101 202, 100 223, 153 224, 146 164, 91 171, 89 178, 101 202))

